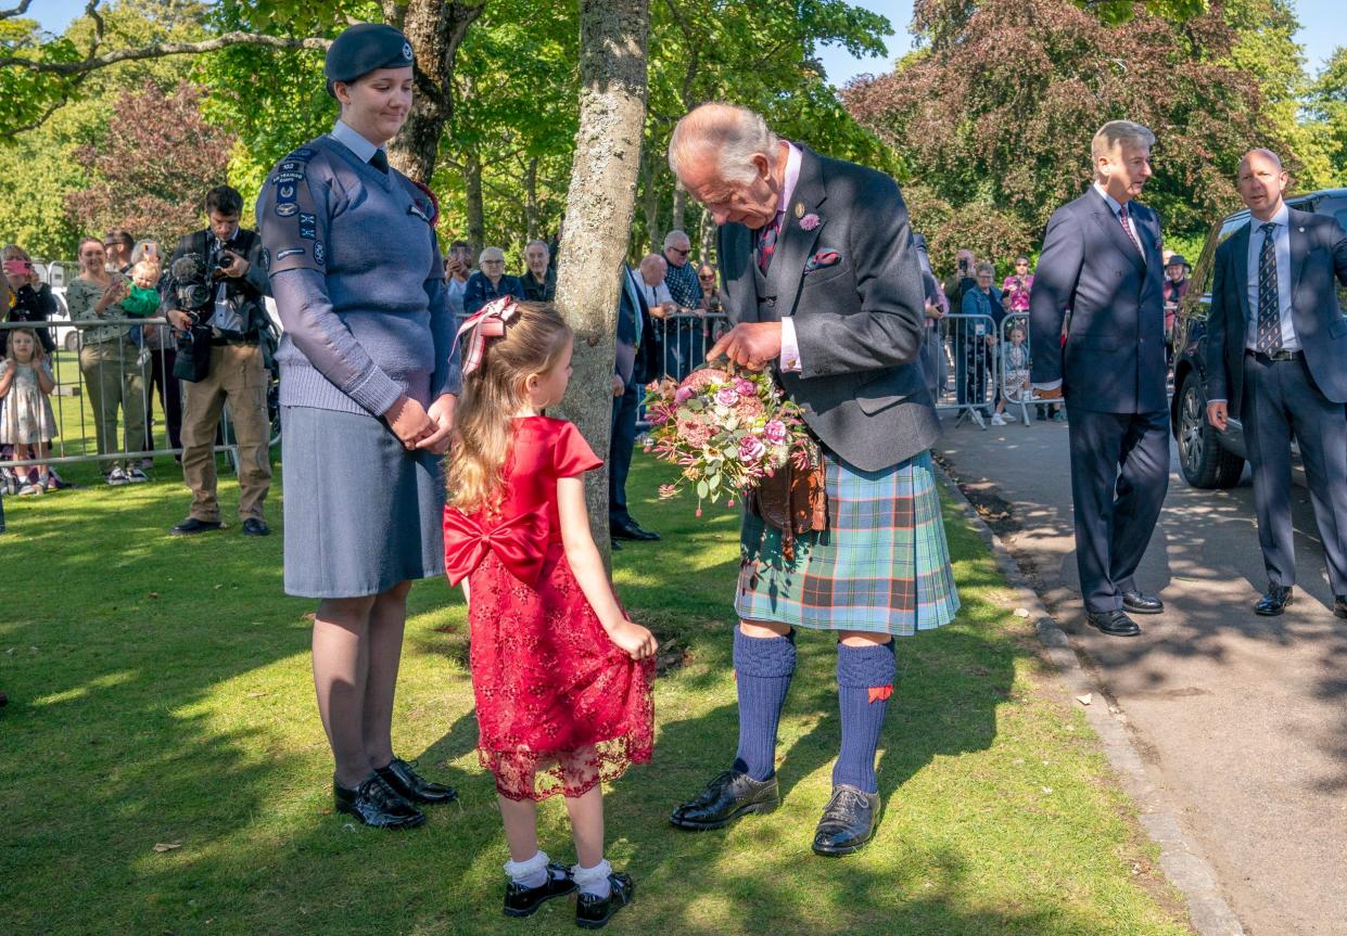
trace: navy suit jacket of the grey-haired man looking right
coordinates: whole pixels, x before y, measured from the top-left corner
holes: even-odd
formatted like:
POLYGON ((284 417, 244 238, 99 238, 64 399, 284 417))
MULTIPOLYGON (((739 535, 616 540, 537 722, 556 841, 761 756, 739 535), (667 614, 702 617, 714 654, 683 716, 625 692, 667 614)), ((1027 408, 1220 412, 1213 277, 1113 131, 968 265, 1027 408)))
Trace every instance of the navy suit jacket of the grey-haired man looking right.
POLYGON ((1094 186, 1048 221, 1029 294, 1032 380, 1063 381, 1072 407, 1168 409, 1160 218, 1129 202, 1145 259, 1094 186), (1061 323, 1071 312, 1065 346, 1061 323))

